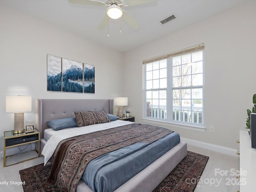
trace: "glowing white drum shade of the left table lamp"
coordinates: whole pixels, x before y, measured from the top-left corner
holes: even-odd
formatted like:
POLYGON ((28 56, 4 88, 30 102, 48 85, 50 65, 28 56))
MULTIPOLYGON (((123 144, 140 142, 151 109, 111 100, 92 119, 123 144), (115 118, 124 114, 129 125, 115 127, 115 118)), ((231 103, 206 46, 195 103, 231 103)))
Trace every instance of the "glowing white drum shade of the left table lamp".
POLYGON ((31 96, 6 96, 6 113, 32 110, 31 96))

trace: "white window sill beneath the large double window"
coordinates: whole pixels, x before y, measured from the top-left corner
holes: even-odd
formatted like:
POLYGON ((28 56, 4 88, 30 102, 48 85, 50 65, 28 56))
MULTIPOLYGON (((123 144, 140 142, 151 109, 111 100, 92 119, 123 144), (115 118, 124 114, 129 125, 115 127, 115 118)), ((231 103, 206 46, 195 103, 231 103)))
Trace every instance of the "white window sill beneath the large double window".
POLYGON ((151 119, 151 118, 142 118, 142 121, 144 121, 144 122, 151 122, 151 123, 156 123, 157 122, 157 123, 160 123, 162 125, 167 125, 167 126, 173 126, 173 127, 178 127, 178 128, 184 128, 184 129, 189 129, 189 130, 205 132, 204 125, 198 125, 198 126, 184 125, 184 124, 179 124, 179 123, 166 122, 164 120, 155 120, 155 119, 151 119))

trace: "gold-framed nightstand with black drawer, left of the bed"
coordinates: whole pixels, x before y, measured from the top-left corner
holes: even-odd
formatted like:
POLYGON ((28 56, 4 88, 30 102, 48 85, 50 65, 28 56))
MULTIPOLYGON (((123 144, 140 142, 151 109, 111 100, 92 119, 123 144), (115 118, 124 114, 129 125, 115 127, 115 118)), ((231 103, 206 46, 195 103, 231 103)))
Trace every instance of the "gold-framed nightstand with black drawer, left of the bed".
MULTIPOLYGON (((34 142, 35 143, 37 142, 38 149, 36 151, 37 151, 38 156, 36 155, 36 157, 34 157, 34 158, 21 160, 14 164, 18 164, 18 163, 21 163, 21 162, 24 162, 27 160, 32 160, 32 159, 40 157, 40 132, 36 129, 34 132, 18 133, 18 134, 13 134, 13 131, 4 131, 4 167, 6 167, 6 158, 7 157, 17 155, 17 154, 14 154, 14 155, 6 156, 6 149, 11 148, 11 147, 25 145, 25 144, 30 144, 30 143, 34 143, 34 142)), ((14 164, 10 164, 10 165, 14 165, 14 164)), ((10 165, 7 165, 7 166, 10 166, 10 165)))

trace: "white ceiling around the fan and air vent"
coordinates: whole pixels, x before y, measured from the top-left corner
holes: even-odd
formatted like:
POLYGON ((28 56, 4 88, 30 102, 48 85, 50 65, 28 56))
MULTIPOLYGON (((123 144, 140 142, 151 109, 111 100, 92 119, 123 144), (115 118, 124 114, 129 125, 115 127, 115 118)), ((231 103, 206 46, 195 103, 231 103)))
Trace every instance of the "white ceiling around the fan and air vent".
MULTIPOLYGON (((101 1, 105 2, 105 0, 101 1)), ((0 0, 0 4, 121 52, 131 50, 245 2, 246 0, 158 0, 137 6, 122 6, 123 10, 140 23, 140 28, 133 30, 122 22, 120 34, 120 20, 110 19, 109 37, 107 37, 108 27, 97 30, 106 14, 106 6, 71 4, 68 0, 0 0), (160 23, 171 14, 175 14, 177 18, 164 25, 160 23)))

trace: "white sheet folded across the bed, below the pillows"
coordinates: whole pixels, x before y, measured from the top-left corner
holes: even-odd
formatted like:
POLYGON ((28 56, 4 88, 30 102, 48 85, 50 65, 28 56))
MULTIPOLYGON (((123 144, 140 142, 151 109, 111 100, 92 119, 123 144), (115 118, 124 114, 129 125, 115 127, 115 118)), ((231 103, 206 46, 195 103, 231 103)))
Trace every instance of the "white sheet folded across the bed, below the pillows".
POLYGON ((130 121, 123 121, 123 120, 116 120, 109 123, 103 123, 103 124, 96 124, 96 125, 90 125, 85 127, 73 127, 73 128, 67 128, 63 130, 48 130, 48 136, 50 135, 50 138, 48 138, 48 141, 46 142, 44 149, 42 150, 42 155, 44 156, 44 165, 48 162, 48 160, 51 158, 52 154, 54 153, 56 147, 58 146, 58 143, 62 141, 63 139, 67 139, 70 137, 82 135, 82 134, 88 134, 96 131, 106 130, 118 126, 128 125, 132 124, 134 122, 130 121))

